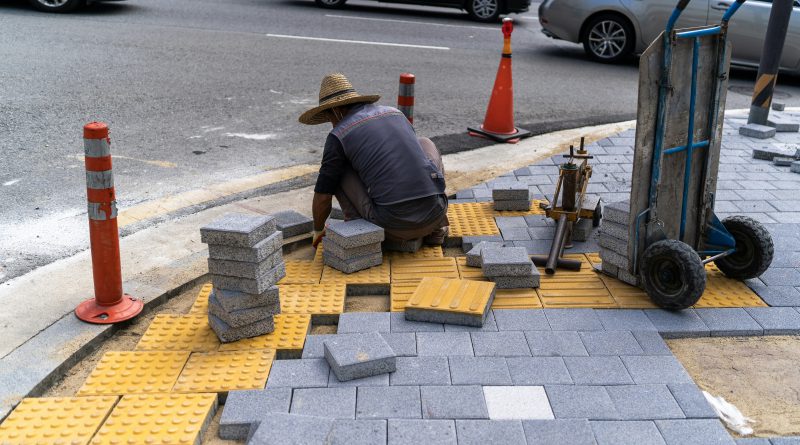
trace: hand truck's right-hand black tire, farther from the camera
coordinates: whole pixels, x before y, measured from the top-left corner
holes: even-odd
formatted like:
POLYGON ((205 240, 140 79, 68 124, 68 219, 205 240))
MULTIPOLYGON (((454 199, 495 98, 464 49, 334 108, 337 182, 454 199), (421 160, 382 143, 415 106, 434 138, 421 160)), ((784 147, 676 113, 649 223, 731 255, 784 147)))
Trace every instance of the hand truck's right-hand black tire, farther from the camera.
POLYGON ((714 263, 729 278, 747 280, 760 276, 772 264, 775 246, 767 229, 753 218, 729 216, 722 220, 736 240, 736 252, 714 263))

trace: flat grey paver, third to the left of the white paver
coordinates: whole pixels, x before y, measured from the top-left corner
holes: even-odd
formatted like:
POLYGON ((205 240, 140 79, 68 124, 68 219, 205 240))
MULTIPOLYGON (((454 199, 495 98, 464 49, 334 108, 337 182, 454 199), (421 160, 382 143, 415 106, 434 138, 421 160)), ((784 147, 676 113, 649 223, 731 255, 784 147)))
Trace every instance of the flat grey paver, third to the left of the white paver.
POLYGON ((292 391, 292 414, 355 419, 356 388, 298 388, 292 391))

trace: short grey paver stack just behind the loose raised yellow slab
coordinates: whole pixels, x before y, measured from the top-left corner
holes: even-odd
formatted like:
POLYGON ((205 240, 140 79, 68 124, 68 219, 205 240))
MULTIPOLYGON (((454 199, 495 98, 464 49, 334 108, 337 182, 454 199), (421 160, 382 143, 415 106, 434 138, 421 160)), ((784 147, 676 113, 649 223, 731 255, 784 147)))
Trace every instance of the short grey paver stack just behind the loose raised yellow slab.
POLYGON ((485 247, 481 249, 481 268, 498 289, 539 287, 539 269, 524 247, 485 247))

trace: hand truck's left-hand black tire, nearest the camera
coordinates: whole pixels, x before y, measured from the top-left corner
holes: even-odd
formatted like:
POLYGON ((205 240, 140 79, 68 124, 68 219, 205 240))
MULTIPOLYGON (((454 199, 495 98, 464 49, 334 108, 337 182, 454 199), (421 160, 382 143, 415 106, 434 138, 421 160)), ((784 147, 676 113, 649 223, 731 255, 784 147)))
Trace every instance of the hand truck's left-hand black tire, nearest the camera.
POLYGON ((706 270, 700 256, 688 244, 662 240, 650 245, 642 256, 641 280, 651 300, 664 309, 686 309, 700 300, 706 289, 706 270), (658 277, 658 268, 669 262, 680 280, 667 289, 658 277))

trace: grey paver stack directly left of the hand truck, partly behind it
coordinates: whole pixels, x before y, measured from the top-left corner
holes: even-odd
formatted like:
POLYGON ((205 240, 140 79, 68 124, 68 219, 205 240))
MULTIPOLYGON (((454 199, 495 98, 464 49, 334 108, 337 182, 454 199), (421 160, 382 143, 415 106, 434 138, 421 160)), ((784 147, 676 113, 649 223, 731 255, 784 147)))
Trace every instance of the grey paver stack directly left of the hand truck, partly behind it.
POLYGON ((598 244, 602 271, 606 275, 633 286, 638 286, 636 276, 631 274, 628 264, 628 217, 630 201, 608 204, 603 209, 603 222, 600 225, 598 244))

